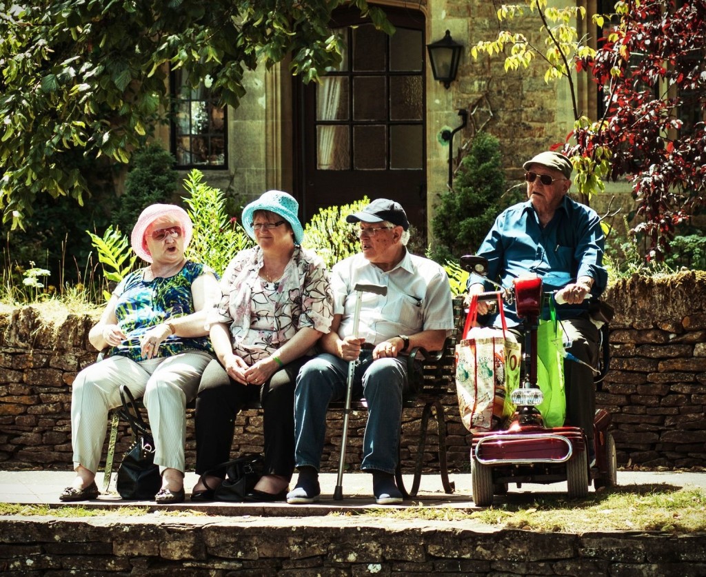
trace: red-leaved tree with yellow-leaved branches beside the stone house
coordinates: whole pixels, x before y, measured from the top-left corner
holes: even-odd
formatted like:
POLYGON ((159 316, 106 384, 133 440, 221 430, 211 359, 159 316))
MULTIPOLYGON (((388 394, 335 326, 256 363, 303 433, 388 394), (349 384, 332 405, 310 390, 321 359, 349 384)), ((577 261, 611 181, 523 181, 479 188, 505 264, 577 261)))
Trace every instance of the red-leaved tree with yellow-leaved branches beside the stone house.
POLYGON ((573 142, 558 147, 572 157, 578 191, 587 201, 603 189, 603 179, 627 177, 645 219, 638 232, 661 259, 675 227, 703 205, 706 193, 706 1, 616 1, 612 15, 592 17, 604 30, 597 50, 573 25, 585 18, 584 8, 551 8, 547 0, 493 3, 501 21, 539 16, 544 47, 503 30, 475 44, 472 56, 501 53, 506 70, 542 62, 546 81, 568 81, 575 129, 573 142), (602 87, 601 118, 578 110, 576 73, 589 73, 602 87))

